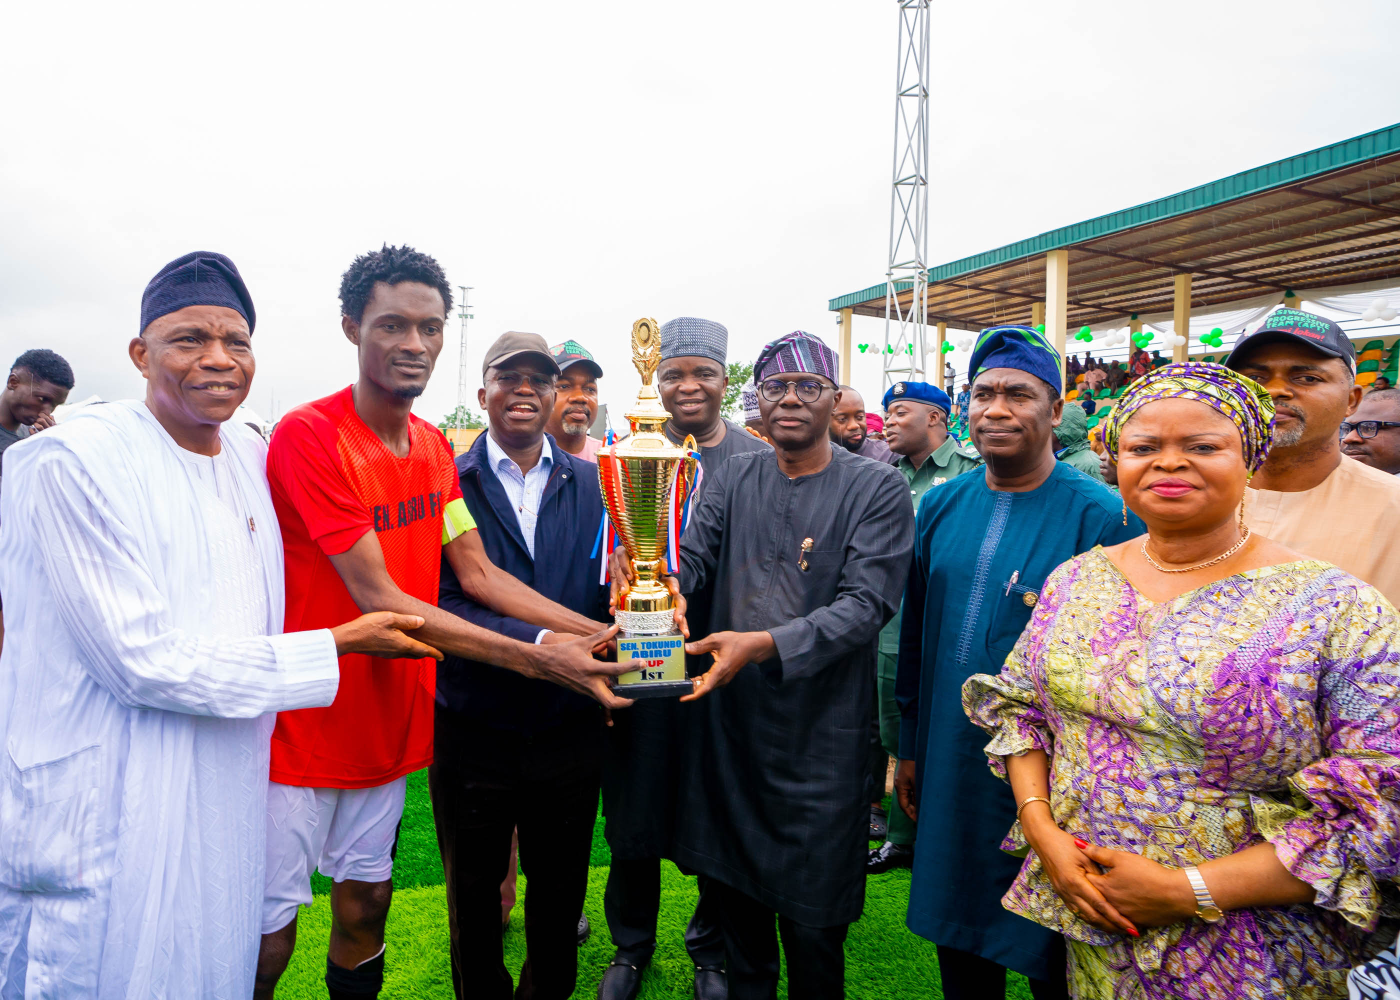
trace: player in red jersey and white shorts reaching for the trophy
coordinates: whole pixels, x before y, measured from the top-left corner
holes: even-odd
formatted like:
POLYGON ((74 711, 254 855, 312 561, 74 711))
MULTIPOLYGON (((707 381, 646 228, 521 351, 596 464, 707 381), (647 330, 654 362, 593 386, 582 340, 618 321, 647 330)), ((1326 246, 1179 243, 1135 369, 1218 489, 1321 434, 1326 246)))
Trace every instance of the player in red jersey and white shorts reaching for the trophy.
MULTIPOLYGON (((595 616, 497 569, 462 499, 447 438, 412 413, 442 350, 451 305, 452 286, 441 266, 412 246, 365 254, 342 276, 340 326, 356 346, 358 380, 291 410, 277 424, 267 452, 286 550, 287 630, 340 622, 358 608, 419 615, 424 625, 414 637, 456 657, 458 664, 494 664, 476 669, 504 668, 500 672, 524 675, 521 681, 543 678, 570 689, 561 695, 577 693, 609 707, 630 704, 608 685, 622 668, 592 655, 612 633, 595 616), (517 619, 517 626, 482 627, 440 609, 440 576, 455 578, 465 594, 503 622, 517 619), (554 629, 564 641, 536 644, 542 629, 554 629), (566 639, 563 633, 573 634, 566 639)), ((539 394, 553 405, 556 373, 547 352, 545 359, 540 371, 512 370, 517 380, 539 381, 533 392, 504 409, 512 426, 531 420, 543 426, 549 406, 539 394)), ((595 532, 596 525, 587 531, 595 532)), ((270 1000, 291 958, 297 908, 311 903, 314 870, 333 881, 326 957, 330 1000, 378 996, 406 782, 433 762, 435 665, 433 660, 385 664, 340 657, 339 688, 329 707, 277 714, 255 997, 270 1000)), ((504 863, 501 868, 503 877, 504 863)), ((575 909, 574 922, 577 915, 575 909)))

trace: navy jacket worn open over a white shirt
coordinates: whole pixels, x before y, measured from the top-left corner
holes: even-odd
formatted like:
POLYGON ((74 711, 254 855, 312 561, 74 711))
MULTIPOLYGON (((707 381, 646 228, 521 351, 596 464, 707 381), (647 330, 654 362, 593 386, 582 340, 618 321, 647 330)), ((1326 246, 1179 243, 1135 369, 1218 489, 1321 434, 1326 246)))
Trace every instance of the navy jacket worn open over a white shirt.
MULTIPOLYGON (((598 466, 574 458, 549 438, 554 465, 540 497, 531 559, 521 535, 515 507, 490 468, 486 434, 456 458, 462 497, 476 520, 486 555, 500 569, 542 595, 598 622, 608 618, 608 588, 599 585, 602 555, 594 555, 603 501, 598 492, 598 466)), ((462 592, 456 573, 442 559, 438 606, 483 629, 522 643, 533 643, 538 625, 497 615, 462 592)), ((598 703, 550 681, 521 676, 490 664, 447 657, 437 669, 437 703, 459 713, 463 725, 511 730, 522 735, 545 732, 561 724, 580 724, 589 713, 601 717, 598 703)), ((441 724, 441 721, 440 721, 441 724)))

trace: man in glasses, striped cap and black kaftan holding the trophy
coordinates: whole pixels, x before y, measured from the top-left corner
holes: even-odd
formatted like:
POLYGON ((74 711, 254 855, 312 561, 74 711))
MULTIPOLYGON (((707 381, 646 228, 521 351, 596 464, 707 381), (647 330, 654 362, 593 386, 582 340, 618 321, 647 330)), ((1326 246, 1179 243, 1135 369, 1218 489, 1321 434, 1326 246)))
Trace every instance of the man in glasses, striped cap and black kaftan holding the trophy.
MULTIPOLYGON (((844 996, 872 797, 875 637, 899 606, 914 511, 904 480, 832 444, 834 352, 797 332, 753 366, 773 451, 707 473, 680 590, 713 584, 713 658, 683 734, 672 857, 704 875, 729 994, 844 996)), ((615 567, 617 562, 615 560, 615 567)))

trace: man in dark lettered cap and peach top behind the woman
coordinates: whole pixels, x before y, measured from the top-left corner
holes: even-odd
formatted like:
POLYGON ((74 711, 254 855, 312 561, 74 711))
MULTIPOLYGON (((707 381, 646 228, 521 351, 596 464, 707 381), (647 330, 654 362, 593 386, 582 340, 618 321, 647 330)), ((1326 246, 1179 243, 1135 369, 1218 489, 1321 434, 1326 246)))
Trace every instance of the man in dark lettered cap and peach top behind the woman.
MULTIPOLYGON (((1400 601, 1400 559, 1389 545, 1400 522, 1400 479, 1343 448, 1343 422, 1355 423, 1362 402, 1347 332, 1326 317, 1275 310, 1235 343, 1225 364, 1274 399, 1274 443, 1245 492, 1245 520, 1400 601)), ((1365 438, 1357 437, 1359 447, 1365 438)))

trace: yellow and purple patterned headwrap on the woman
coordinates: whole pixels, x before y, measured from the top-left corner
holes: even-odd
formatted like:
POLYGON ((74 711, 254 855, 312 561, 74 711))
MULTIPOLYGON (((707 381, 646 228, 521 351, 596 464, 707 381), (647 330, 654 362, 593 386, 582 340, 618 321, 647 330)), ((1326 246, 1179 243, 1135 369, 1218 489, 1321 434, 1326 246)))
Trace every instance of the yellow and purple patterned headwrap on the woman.
POLYGON ((1103 447, 1119 461, 1119 436, 1133 415, 1158 399, 1194 399, 1224 413, 1239 431, 1245 468, 1259 472, 1274 441, 1274 401, 1253 378, 1224 364, 1182 361, 1149 371, 1130 385, 1109 415, 1103 447))

